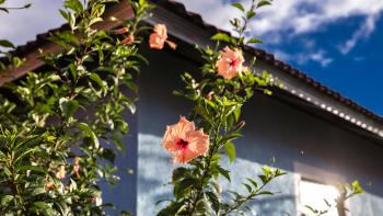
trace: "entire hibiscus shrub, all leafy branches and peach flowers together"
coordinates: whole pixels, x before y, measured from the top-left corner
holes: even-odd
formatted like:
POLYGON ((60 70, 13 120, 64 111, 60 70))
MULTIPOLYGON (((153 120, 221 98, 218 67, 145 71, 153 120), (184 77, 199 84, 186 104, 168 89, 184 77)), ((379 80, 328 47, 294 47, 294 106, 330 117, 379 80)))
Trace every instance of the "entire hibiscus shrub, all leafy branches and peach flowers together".
MULTIPOLYGON (((106 207, 113 206, 102 201, 100 182, 118 182, 115 149, 124 149, 121 137, 129 128, 124 113, 135 112, 135 77, 144 59, 138 53, 141 38, 137 34, 146 27, 138 23, 152 8, 146 0, 131 0, 135 19, 121 21, 124 26, 115 31, 97 30, 105 7, 115 2, 66 0, 60 14, 70 29, 50 37, 61 50, 44 55, 44 71, 30 71, 0 88, 1 215, 105 215, 106 207)), ((237 37, 212 36, 216 48, 197 47, 206 60, 201 76, 182 76, 185 88, 175 93, 194 106, 187 118, 181 116, 178 123, 167 126, 163 137, 163 147, 183 166, 173 171, 174 198, 159 215, 242 213, 248 201, 271 195, 266 186, 285 174, 265 166, 258 180, 244 183, 245 194, 223 191, 218 181, 220 177, 231 180, 220 160, 223 151, 230 162, 235 159, 233 140, 242 136, 245 125, 243 104, 255 90, 271 94, 268 88, 280 86, 266 71, 253 71, 255 59, 245 67, 242 53, 244 45, 260 42, 246 39, 244 33, 255 10, 269 3, 253 0, 249 10, 233 3, 243 12, 242 20, 231 20, 237 37)), ((149 45, 162 49, 165 44, 176 47, 167 39, 166 26, 158 24, 149 45)), ((13 48, 8 41, 0 41, 0 46, 13 48)), ((0 62, 0 70, 22 64, 7 52, 1 54, 8 61, 0 62)), ((361 192, 355 182, 328 207, 343 209, 347 198, 361 192)), ((314 215, 326 213, 307 208, 314 215)))

